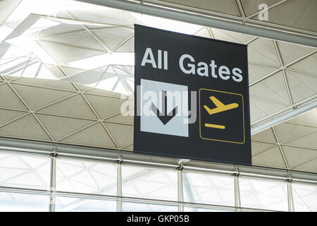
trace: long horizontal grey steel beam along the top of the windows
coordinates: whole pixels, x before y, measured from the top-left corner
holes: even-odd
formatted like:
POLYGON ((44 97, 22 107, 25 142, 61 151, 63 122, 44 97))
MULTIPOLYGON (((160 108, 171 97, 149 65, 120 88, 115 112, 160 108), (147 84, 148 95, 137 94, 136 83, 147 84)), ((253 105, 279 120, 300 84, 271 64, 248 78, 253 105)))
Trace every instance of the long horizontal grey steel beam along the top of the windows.
MULTIPOLYGON (((79 145, 64 145, 55 143, 58 147, 59 157, 75 157, 82 160, 101 160, 116 162, 118 160, 118 150, 106 148, 83 147, 79 145)), ((0 138, 0 150, 10 153, 21 154, 41 154, 50 155, 53 143, 26 141, 15 138, 0 138)), ((161 157, 154 155, 142 155, 132 153, 131 151, 121 150, 122 160, 125 163, 147 165, 158 168, 177 169, 179 167, 177 159, 173 157, 161 157)), ((192 170, 194 172, 216 172, 223 174, 232 174, 235 171, 235 165, 221 164, 214 162, 205 162, 190 160, 186 162, 183 169, 192 170)), ((306 180, 312 183, 317 183, 317 175, 309 172, 300 172, 295 170, 273 169, 268 167, 247 167, 239 166, 240 175, 249 175, 254 177, 278 178, 285 179, 289 175, 293 180, 306 180)))

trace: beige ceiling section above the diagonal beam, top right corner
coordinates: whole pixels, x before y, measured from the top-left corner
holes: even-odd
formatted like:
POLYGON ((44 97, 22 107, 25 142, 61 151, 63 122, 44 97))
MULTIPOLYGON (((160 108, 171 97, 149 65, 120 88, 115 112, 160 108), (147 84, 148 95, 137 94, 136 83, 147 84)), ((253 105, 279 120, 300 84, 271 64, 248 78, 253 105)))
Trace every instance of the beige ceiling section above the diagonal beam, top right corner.
POLYGON ((316 37, 314 23, 317 16, 316 0, 136 0, 153 6, 165 6, 175 10, 185 10, 219 16, 267 28, 280 28, 292 32, 302 32, 316 37), (268 7, 268 18, 263 20, 263 4, 268 7))

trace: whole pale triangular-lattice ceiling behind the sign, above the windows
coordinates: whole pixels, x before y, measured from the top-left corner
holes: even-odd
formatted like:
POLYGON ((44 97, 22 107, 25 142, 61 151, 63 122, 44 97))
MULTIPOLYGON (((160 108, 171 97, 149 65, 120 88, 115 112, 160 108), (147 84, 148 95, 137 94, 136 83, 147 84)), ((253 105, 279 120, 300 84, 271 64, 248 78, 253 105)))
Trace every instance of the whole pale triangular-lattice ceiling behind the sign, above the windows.
MULTIPOLYGON (((56 2, 0 2, 0 136, 132 150, 133 118, 121 112, 133 112, 134 23, 247 44, 252 125, 316 100, 315 48, 77 1, 56 2), (121 109, 123 102, 128 108, 121 109)), ((242 8, 236 1, 225 8, 218 2, 213 9, 256 18, 255 2, 241 0, 242 8)), ((279 13, 291 11, 293 1, 266 2, 270 23, 316 32, 306 16, 316 1, 301 1, 302 14, 284 24, 279 13), (302 25, 305 18, 309 23, 302 25)), ((317 172, 316 119, 313 109, 256 133, 253 164, 317 172)))

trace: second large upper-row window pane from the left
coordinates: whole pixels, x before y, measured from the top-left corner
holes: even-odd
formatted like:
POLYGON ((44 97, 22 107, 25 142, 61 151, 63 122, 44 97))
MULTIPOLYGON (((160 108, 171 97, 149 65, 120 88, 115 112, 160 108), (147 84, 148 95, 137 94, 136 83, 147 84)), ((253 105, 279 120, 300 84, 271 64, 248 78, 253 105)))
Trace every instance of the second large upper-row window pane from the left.
POLYGON ((116 195, 116 165, 77 160, 57 160, 56 189, 57 191, 116 195))

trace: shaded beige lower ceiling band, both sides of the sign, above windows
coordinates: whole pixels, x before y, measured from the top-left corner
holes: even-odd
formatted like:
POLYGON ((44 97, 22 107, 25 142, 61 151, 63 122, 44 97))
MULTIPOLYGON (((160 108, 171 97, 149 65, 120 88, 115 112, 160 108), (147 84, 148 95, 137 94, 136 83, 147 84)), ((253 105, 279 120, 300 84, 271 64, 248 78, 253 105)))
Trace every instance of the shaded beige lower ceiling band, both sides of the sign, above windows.
MULTIPOLYGON (((133 106, 130 96, 67 81, 0 78, 0 136, 132 150, 133 109, 120 109, 133 106)), ((253 165, 317 172, 316 118, 313 109, 256 133, 253 165)))

